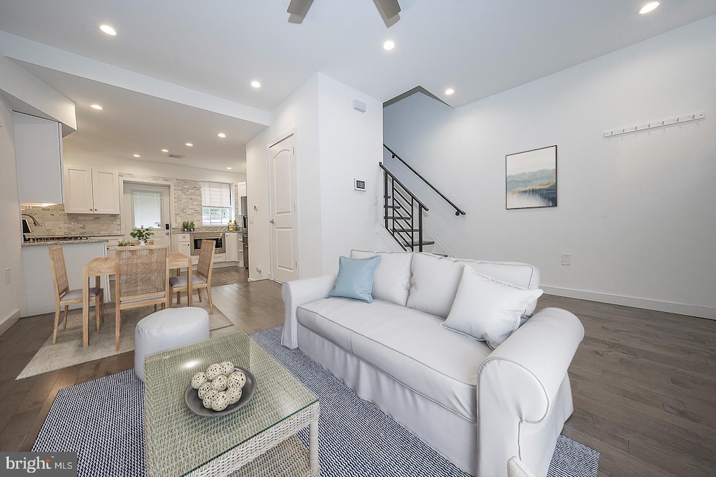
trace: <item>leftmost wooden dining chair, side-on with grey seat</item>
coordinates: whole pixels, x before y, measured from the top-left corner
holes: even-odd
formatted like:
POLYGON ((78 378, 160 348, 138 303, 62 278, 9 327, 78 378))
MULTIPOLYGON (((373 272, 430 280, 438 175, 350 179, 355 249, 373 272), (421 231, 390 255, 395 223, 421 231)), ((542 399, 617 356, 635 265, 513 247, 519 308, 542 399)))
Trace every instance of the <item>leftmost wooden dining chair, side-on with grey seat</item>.
MULTIPOLYGON (((79 290, 69 290, 69 282, 67 282, 67 268, 64 266, 64 252, 62 245, 53 245, 49 247, 49 262, 52 265, 52 281, 54 282, 54 332, 52 333, 52 343, 57 342, 57 328, 59 326, 59 310, 64 306, 64 325, 62 329, 67 329, 67 311, 69 305, 82 303, 82 288, 79 290)), ((102 305, 105 301, 102 288, 89 288, 89 297, 95 302, 95 315, 97 315, 97 333, 100 333, 100 320, 105 320, 105 312, 102 305)))

